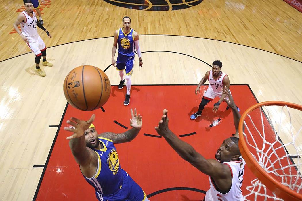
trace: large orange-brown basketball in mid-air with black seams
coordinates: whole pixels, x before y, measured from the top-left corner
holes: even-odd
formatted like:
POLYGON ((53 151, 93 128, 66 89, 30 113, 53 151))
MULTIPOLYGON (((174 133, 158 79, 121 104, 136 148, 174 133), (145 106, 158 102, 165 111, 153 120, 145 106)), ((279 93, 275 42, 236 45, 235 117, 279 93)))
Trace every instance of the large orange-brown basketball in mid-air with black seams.
POLYGON ((79 66, 66 76, 63 84, 66 100, 73 107, 91 111, 109 99, 111 84, 108 76, 95 66, 79 66))

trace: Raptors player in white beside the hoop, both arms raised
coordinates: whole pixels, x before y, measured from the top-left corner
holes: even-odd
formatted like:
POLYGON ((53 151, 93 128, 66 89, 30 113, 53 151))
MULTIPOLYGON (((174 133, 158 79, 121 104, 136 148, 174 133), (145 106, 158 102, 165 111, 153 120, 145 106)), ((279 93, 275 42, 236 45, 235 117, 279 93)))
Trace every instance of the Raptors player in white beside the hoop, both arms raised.
POLYGON ((223 95, 228 96, 227 105, 232 108, 236 133, 234 137, 223 140, 215 154, 215 159, 205 159, 191 145, 179 139, 168 127, 168 111, 164 109, 162 119, 155 130, 172 146, 183 159, 190 162, 195 168, 209 175, 210 189, 207 191, 205 201, 243 201, 240 190, 243 181, 245 161, 242 159, 238 147, 238 126, 240 114, 233 97, 227 87, 223 95))

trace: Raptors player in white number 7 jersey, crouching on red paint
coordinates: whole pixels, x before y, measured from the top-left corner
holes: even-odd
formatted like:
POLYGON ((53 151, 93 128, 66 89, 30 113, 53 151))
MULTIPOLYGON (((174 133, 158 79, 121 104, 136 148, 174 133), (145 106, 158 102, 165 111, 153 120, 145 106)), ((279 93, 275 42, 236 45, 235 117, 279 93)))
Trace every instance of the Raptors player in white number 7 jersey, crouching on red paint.
MULTIPOLYGON (((227 89, 230 89, 230 80, 226 73, 220 71, 221 68, 222 62, 219 60, 214 61, 212 64, 212 70, 207 71, 205 76, 200 80, 197 88, 195 89, 196 95, 198 92, 200 93, 200 86, 203 85, 207 80, 209 80, 210 84, 206 93, 204 93, 204 96, 202 97, 202 100, 198 107, 198 111, 191 115, 191 119, 196 119, 197 117, 200 117, 204 106, 206 106, 210 101, 213 101, 214 98, 220 98, 219 101, 214 104, 214 112, 217 112, 219 105, 223 101, 223 99, 228 99, 227 96, 222 93, 221 89, 223 89, 224 86, 226 86, 227 89)), ((238 107, 237 109, 239 111, 238 107)))

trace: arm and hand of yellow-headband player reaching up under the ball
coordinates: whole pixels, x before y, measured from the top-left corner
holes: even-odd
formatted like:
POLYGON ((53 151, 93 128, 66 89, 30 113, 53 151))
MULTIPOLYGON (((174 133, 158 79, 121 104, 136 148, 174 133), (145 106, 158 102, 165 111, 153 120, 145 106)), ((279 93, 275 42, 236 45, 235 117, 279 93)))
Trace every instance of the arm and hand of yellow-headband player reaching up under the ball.
POLYGON ((83 121, 72 117, 67 121, 72 127, 64 127, 64 130, 72 132, 73 135, 67 137, 69 147, 76 162, 80 165, 82 173, 87 178, 91 178, 96 173, 98 166, 97 154, 90 148, 86 147, 84 132, 94 121, 95 115, 90 120, 83 121))

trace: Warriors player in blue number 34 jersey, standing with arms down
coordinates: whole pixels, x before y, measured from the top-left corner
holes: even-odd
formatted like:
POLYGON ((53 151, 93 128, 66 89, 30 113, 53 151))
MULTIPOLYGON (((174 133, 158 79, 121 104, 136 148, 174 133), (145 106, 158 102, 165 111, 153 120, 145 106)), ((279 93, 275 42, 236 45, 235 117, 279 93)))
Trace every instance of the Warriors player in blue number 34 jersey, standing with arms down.
POLYGON ((130 76, 133 71, 134 65, 134 55, 137 52, 138 57, 140 58, 140 67, 143 66, 143 60, 140 53, 139 46, 139 35, 136 33, 131 26, 130 17, 123 17, 123 27, 116 30, 114 33, 114 41, 112 47, 112 58, 111 64, 119 71, 120 74, 120 84, 118 85, 118 89, 122 89, 124 87, 124 70, 126 71, 125 79, 127 80, 127 93, 124 101, 124 105, 128 105, 130 103, 130 88, 131 88, 131 80, 130 76), (118 56, 117 61, 114 60, 115 52, 118 44, 118 56))

